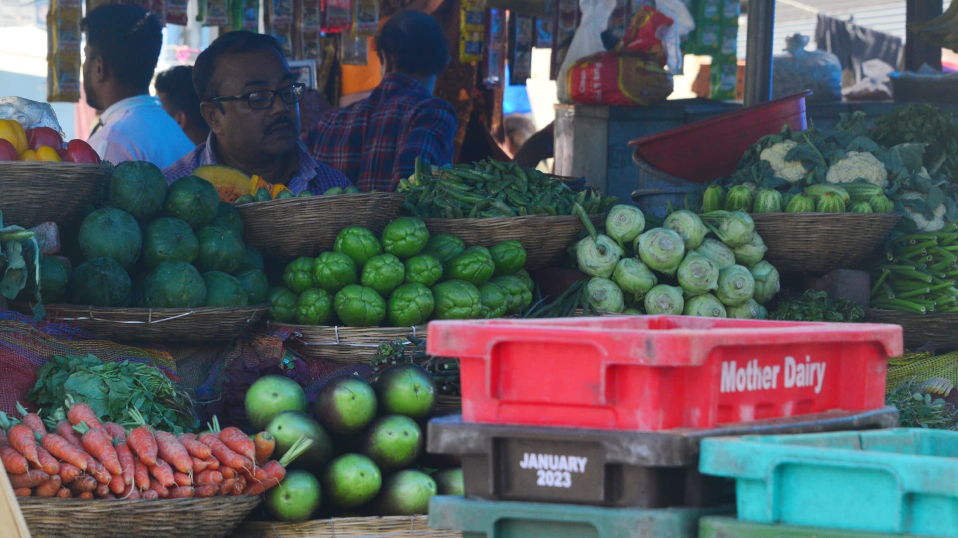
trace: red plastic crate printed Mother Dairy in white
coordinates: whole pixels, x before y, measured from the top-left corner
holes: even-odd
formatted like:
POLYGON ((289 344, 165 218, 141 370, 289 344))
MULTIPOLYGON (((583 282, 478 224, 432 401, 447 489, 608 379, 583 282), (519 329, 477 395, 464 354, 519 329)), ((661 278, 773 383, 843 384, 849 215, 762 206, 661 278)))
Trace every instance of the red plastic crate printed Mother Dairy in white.
POLYGON ((629 316, 432 322, 468 422, 711 428, 884 403, 901 327, 629 316), (824 375, 821 372, 824 371, 824 375))

